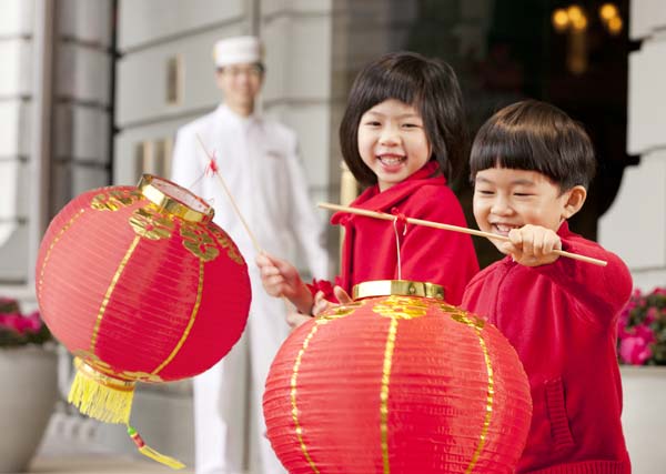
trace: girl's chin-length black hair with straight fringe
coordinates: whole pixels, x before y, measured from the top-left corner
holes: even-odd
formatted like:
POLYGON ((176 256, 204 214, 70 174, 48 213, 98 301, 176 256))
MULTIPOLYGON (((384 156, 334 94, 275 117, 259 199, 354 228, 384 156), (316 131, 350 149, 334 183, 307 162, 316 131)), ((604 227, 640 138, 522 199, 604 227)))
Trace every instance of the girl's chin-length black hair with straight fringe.
POLYGON ((352 84, 340 124, 342 155, 356 180, 375 184, 376 174, 359 154, 361 117, 376 104, 396 99, 413 105, 424 123, 437 160, 451 182, 464 164, 467 147, 463 97, 453 69, 443 61, 414 52, 392 52, 365 65, 352 84))

